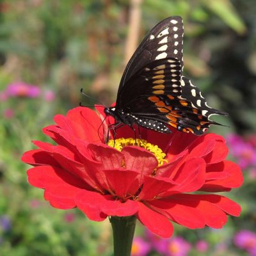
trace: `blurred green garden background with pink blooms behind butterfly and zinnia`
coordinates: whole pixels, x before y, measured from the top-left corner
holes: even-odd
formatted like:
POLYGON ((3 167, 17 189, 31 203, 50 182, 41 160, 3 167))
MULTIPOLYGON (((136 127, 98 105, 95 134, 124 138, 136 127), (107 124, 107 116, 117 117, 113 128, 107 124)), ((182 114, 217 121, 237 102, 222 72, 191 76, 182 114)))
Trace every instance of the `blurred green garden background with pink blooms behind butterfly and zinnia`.
POLYGON ((228 127, 210 131, 225 136, 243 169, 243 186, 229 195, 243 211, 221 230, 175 225, 164 241, 138 225, 132 255, 256 255, 255 13, 255 0, 1 0, 0 255, 112 255, 108 220, 50 207, 20 156, 31 140, 47 140, 41 130, 55 114, 115 101, 132 52, 171 15, 184 19, 186 76, 229 113, 214 118, 228 127))

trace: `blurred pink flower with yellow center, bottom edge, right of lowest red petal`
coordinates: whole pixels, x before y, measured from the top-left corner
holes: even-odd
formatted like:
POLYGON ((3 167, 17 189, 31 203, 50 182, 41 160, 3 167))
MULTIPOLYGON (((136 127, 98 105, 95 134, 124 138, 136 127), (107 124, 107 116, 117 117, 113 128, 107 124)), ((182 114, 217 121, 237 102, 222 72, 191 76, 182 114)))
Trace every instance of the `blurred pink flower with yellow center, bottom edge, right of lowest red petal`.
POLYGON ((166 256, 186 256, 190 250, 191 244, 177 236, 170 239, 166 256))

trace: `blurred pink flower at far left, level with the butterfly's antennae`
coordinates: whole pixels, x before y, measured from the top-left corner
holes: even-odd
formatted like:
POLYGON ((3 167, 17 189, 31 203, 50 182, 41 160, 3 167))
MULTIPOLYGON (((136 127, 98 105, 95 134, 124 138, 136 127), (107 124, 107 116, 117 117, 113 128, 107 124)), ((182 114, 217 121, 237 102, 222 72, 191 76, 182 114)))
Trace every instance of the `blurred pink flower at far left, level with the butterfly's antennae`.
POLYGON ((26 84, 24 82, 16 82, 7 86, 6 93, 11 97, 36 98, 40 95, 41 90, 35 85, 26 84))

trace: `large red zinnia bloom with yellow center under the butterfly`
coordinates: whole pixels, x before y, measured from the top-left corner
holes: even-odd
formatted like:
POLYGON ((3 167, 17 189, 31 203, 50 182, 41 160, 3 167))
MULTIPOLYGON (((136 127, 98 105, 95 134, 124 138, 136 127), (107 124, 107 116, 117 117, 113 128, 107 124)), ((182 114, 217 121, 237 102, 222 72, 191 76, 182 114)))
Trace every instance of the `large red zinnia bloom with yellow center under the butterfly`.
MULTIPOLYGON (((171 221, 188 228, 221 228, 227 215, 239 216, 236 202, 212 194, 243 182, 239 166, 225 160, 228 149, 221 136, 140 128, 149 143, 137 138, 138 147, 124 139, 134 137, 132 129, 122 127, 113 148, 111 141, 102 143, 102 119, 92 109, 75 108, 54 121, 43 131, 57 145, 33 141, 38 149, 22 157, 35 166, 28 170, 29 183, 45 189, 45 200, 53 207, 78 207, 95 221, 135 215, 162 237, 172 235, 171 221)), ((113 118, 106 123, 113 124, 113 118)))

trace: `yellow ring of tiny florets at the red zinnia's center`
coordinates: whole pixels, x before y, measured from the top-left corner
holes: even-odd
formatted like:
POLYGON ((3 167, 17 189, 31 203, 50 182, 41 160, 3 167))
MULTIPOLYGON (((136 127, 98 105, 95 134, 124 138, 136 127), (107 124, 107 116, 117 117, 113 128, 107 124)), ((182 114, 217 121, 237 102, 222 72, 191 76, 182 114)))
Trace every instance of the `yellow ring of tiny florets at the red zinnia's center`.
POLYGON ((122 148, 124 148, 125 146, 136 146, 140 148, 145 148, 156 156, 158 166, 161 166, 164 163, 168 163, 167 159, 165 159, 166 154, 164 154, 163 150, 161 150, 161 148, 159 148, 157 145, 148 143, 147 140, 136 139, 135 141, 132 138, 119 138, 115 141, 109 140, 108 145, 109 147, 116 148, 119 151, 122 151, 122 148))

